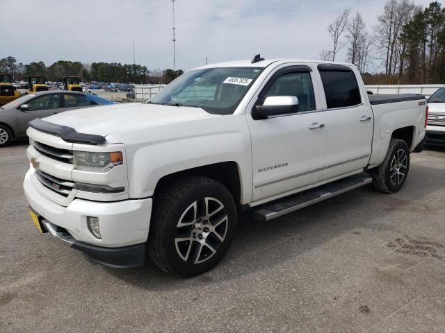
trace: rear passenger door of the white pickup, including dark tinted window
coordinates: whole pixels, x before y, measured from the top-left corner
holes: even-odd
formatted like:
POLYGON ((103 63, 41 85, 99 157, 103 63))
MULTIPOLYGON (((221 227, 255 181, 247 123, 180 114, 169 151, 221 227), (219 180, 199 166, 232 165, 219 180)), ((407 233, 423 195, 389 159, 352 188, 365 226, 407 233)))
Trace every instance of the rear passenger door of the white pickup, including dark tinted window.
MULTIPOLYGON (((326 166, 329 180, 361 171, 369 162, 373 112, 355 71, 341 65, 318 65, 326 99, 326 166)), ((358 72, 357 72, 358 74, 358 72)))

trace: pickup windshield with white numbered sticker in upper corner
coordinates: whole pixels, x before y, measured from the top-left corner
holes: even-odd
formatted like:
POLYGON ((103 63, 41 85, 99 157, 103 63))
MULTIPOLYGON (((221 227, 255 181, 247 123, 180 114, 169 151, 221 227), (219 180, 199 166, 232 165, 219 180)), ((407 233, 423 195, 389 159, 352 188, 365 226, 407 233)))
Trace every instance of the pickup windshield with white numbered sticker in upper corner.
POLYGON ((263 71, 257 67, 220 67, 188 71, 147 103, 184 105, 209 113, 232 114, 263 71))

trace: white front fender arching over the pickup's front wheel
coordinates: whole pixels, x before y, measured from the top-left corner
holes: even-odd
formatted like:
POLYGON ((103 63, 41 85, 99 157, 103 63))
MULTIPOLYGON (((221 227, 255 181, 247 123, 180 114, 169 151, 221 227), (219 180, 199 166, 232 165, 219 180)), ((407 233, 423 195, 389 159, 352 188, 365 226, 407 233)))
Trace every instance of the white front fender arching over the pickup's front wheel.
POLYGON ((172 173, 233 161, 238 165, 241 203, 252 199, 252 153, 244 114, 132 130, 107 140, 125 143, 130 198, 153 196, 159 180, 172 173))

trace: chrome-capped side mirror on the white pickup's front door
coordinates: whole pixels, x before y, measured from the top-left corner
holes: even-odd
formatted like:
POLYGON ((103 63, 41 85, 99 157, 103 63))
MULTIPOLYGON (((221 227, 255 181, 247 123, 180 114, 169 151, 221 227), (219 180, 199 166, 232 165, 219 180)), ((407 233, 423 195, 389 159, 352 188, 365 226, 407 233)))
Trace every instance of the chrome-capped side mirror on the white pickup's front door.
POLYGON ((298 112, 298 98, 296 96, 270 96, 264 100, 263 105, 257 105, 252 110, 255 120, 267 119, 281 114, 298 112))

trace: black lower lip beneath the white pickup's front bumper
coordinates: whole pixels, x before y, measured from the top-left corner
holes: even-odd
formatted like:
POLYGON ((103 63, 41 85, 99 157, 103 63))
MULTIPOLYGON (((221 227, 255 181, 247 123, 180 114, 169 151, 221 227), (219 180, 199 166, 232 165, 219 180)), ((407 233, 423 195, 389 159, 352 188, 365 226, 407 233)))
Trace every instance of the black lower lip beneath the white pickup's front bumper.
POLYGON ((145 262, 145 244, 123 246, 120 248, 104 248, 76 241, 69 232, 43 219, 44 229, 65 244, 88 255, 95 262, 114 268, 130 268, 143 266, 145 262))

